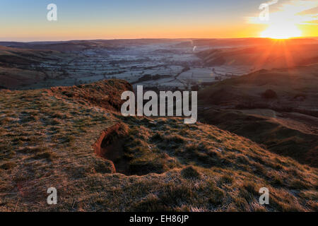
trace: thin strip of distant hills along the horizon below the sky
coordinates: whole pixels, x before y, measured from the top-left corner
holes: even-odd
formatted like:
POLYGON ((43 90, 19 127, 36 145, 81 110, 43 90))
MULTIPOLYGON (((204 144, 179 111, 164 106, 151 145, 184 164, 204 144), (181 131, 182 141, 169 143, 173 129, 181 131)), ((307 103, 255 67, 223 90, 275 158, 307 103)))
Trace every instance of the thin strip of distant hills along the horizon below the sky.
MULTIPOLYGON (((232 39, 120 39, 120 40, 70 40, 61 42, 0 42, 6 47, 20 49, 51 49, 61 52, 81 51, 87 48, 117 48, 130 45, 172 44, 175 47, 250 47, 271 45, 279 40, 268 38, 232 38, 232 39)), ((285 44, 318 44, 316 38, 284 40, 285 44)))

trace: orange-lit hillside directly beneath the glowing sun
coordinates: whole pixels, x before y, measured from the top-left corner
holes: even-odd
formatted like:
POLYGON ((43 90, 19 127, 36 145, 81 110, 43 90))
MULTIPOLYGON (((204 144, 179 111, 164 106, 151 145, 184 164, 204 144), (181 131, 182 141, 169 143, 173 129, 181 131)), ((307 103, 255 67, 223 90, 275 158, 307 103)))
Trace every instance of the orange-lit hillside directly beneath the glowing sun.
POLYGON ((250 47, 215 47, 199 52, 197 56, 206 66, 252 66, 254 70, 260 70, 314 64, 318 62, 317 52, 317 42, 298 44, 276 40, 250 47))

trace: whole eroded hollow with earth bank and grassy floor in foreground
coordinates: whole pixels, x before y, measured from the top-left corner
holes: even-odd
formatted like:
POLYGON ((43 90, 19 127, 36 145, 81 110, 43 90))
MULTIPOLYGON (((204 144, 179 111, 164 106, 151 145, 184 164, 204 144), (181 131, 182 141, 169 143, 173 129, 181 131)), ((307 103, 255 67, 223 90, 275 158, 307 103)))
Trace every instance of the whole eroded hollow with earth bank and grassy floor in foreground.
MULTIPOLYGON (((171 157, 166 150, 157 148, 158 143, 148 137, 145 127, 131 126, 124 123, 115 124, 106 129, 95 143, 95 153, 105 159, 102 164, 106 173, 119 172, 127 176, 163 174, 175 167, 179 161, 171 157), (105 166, 104 166, 105 165, 105 166)), ((167 145, 170 146, 170 141, 167 145)), ((179 145, 179 144, 177 144, 179 145)), ((173 156, 173 155, 172 155, 173 156)))

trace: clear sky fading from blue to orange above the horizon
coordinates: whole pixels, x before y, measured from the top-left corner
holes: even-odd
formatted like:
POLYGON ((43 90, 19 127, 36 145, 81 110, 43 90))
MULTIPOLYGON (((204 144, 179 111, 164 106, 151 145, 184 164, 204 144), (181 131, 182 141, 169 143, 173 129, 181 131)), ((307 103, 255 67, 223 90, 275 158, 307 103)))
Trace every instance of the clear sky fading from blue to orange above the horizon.
POLYGON ((0 1, 1 41, 271 37, 283 29, 318 37, 318 0, 0 1), (277 2, 264 22, 266 1, 277 2), (47 20, 48 4, 57 5, 57 21, 47 20))

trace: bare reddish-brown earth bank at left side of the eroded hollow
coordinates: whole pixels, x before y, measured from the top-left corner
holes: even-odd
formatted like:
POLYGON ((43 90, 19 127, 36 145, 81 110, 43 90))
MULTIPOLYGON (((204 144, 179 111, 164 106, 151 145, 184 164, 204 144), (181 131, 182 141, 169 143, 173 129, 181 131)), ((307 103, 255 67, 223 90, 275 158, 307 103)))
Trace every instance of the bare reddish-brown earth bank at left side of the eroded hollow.
POLYGON ((129 175, 129 160, 124 155, 127 135, 128 128, 124 124, 115 124, 102 132, 94 149, 97 155, 112 161, 115 172, 129 175))

